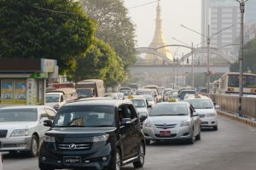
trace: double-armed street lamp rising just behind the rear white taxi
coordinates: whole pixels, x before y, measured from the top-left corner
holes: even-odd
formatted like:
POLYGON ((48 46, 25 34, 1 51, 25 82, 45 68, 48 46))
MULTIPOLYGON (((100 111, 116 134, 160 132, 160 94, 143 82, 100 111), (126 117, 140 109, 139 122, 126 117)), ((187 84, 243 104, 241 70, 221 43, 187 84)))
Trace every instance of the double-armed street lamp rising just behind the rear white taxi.
POLYGON ((222 31, 225 31, 225 30, 229 29, 232 25, 224 28, 221 31, 216 32, 212 36, 210 36, 210 25, 208 25, 207 36, 201 34, 198 31, 194 31, 194 30, 192 30, 191 28, 189 28, 187 26, 184 26, 184 25, 180 25, 180 26, 182 26, 183 28, 186 28, 189 31, 193 31, 193 32, 201 35, 202 37, 206 37, 207 38, 207 92, 208 92, 208 95, 209 95, 209 93, 210 93, 210 42, 211 42, 211 37, 217 35, 218 33, 222 32, 222 31))

